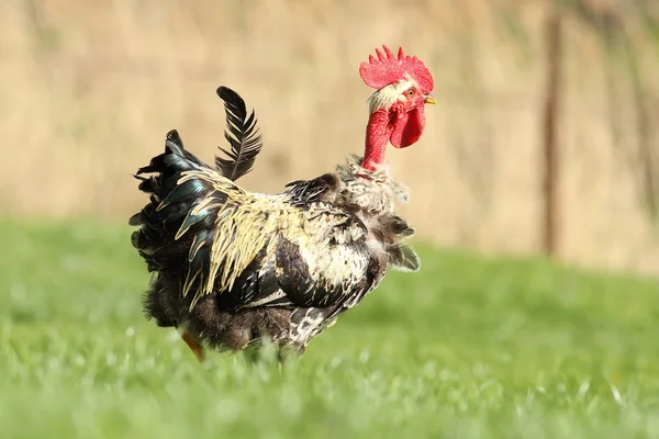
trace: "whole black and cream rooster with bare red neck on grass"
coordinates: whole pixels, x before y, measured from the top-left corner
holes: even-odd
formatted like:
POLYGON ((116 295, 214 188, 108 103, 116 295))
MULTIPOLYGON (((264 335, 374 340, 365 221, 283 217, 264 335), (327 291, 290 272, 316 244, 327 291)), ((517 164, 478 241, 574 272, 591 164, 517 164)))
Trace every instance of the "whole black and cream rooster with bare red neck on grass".
MULTIPOLYGON (((278 194, 250 193, 236 180, 261 148, 254 111, 220 87, 231 150, 215 169, 183 148, 176 131, 165 153, 138 169, 146 206, 130 224, 132 243, 155 275, 144 300, 147 318, 175 327, 203 361, 204 346, 223 351, 261 347, 301 354, 312 338, 358 304, 389 269, 417 271, 405 243, 414 229, 394 213, 407 190, 384 166, 389 143, 418 140, 434 81, 418 58, 387 46, 361 63, 376 89, 362 157, 278 194), (149 175, 146 177, 145 175, 149 175)), ((258 349, 257 349, 258 350, 258 349)))

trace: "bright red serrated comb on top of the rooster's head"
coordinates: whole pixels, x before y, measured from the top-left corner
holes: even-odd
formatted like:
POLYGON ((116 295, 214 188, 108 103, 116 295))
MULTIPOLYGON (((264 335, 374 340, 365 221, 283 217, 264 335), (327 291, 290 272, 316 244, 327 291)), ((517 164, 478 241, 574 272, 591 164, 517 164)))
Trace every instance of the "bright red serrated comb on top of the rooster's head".
POLYGON ((418 82, 424 93, 429 93, 435 87, 433 76, 421 59, 415 56, 404 55, 399 48, 398 57, 393 56, 389 47, 382 46, 384 54, 376 49, 378 57, 368 56, 368 63, 359 66, 359 75, 368 87, 381 89, 390 83, 405 80, 405 74, 418 82))

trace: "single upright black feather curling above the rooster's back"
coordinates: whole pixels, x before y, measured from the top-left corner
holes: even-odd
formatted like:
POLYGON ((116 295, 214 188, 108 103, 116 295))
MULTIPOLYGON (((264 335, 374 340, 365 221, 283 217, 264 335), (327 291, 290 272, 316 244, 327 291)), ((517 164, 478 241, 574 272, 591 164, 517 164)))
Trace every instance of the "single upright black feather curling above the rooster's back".
POLYGON ((227 179, 236 181, 252 170, 254 160, 263 147, 254 110, 248 115, 245 101, 227 87, 220 87, 217 95, 224 101, 226 130, 224 137, 231 150, 219 147, 227 158, 215 157, 217 170, 227 179))

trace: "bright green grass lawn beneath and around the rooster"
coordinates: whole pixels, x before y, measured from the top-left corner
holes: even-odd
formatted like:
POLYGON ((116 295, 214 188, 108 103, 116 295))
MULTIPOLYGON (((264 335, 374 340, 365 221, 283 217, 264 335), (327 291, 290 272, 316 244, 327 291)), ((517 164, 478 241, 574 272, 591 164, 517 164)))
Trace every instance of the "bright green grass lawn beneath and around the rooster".
POLYGON ((0 221, 7 438, 659 436, 659 288, 422 251, 280 371, 141 313, 130 230, 0 221))

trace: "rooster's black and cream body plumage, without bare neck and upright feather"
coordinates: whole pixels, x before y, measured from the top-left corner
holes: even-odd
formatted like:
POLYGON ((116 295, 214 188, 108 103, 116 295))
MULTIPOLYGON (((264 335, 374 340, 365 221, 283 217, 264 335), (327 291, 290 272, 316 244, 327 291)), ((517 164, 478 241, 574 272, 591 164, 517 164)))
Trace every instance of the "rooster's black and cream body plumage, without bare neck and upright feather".
POLYGON ((413 229, 393 214, 406 191, 386 170, 366 171, 354 158, 266 195, 186 156, 170 133, 161 161, 172 169, 148 169, 159 172, 142 183, 152 203, 133 221, 143 225, 133 243, 157 272, 146 314, 160 326, 185 327, 221 349, 267 335, 301 352, 389 267, 418 269, 403 244, 413 229), (163 181, 168 173, 176 180, 163 181), (194 222, 199 213, 204 217, 194 222))

